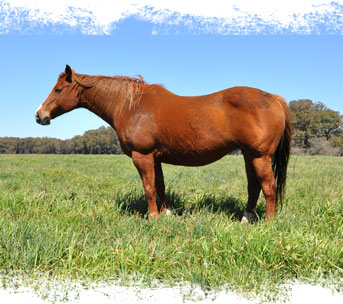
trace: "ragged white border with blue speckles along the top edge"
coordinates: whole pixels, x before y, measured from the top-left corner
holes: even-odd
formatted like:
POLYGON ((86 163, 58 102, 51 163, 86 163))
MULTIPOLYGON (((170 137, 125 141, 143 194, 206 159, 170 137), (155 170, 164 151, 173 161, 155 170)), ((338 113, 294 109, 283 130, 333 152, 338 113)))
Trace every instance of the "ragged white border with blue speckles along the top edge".
POLYGON ((310 33, 327 23, 342 34, 343 0, 2 0, 0 33, 11 28, 66 25, 84 34, 109 34, 129 16, 153 24, 182 24, 190 31, 256 33, 266 26, 278 33, 310 33))

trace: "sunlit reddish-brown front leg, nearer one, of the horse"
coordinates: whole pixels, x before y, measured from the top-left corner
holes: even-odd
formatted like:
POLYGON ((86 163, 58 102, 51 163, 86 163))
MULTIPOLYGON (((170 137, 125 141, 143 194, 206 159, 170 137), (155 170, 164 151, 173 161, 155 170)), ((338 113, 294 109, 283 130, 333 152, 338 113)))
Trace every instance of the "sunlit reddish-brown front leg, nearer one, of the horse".
POLYGON ((145 196, 148 200, 149 216, 150 218, 155 218, 158 216, 158 209, 155 196, 156 185, 154 154, 141 154, 139 152, 132 152, 131 157, 143 182, 145 196))

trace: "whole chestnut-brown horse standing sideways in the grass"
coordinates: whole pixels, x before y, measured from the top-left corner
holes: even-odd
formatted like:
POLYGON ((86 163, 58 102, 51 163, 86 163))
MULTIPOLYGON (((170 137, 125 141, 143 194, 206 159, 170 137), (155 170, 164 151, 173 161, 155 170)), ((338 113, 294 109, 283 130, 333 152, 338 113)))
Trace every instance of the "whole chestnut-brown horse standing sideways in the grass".
POLYGON ((242 221, 250 221, 261 189, 266 221, 282 201, 290 154, 291 122, 286 102, 277 95, 234 87, 210 95, 181 97, 143 78, 88 76, 68 65, 36 112, 50 120, 86 108, 118 134, 123 152, 141 176, 149 215, 159 214, 155 193, 168 213, 161 163, 203 166, 241 149, 248 179, 242 221))

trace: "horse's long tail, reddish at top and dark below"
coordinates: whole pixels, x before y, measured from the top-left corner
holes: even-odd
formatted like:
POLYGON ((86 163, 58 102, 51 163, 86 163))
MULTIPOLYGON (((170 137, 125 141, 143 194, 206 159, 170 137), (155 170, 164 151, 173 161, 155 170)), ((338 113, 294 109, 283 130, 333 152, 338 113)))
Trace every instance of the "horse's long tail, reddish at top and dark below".
POLYGON ((276 201, 279 201, 282 206, 286 186, 287 165, 291 151, 292 123, 286 101, 280 96, 277 96, 277 99, 282 106, 285 115, 285 129, 279 145, 276 148, 272 167, 277 184, 276 201))

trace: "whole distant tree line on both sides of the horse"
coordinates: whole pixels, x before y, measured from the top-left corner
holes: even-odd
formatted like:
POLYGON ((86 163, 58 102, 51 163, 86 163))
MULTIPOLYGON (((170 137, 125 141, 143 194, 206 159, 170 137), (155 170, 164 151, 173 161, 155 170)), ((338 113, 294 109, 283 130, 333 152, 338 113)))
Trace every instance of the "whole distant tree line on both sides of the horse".
MULTIPOLYGON (((343 155, 343 116, 339 112, 309 99, 292 100, 288 106, 293 126, 293 153, 343 155)), ((0 137, 0 153, 121 154, 122 151, 115 131, 100 127, 67 140, 0 137)))

